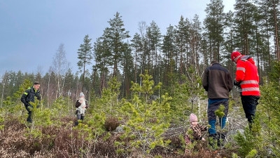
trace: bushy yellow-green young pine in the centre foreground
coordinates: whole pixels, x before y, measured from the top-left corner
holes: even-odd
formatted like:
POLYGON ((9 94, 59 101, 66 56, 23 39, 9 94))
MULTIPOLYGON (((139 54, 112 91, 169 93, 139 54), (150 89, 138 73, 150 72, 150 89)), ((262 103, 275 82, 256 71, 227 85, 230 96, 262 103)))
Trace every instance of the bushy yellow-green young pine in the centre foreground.
POLYGON ((123 134, 123 142, 126 146, 123 151, 130 150, 132 147, 141 147, 143 154, 147 154, 153 150, 157 145, 165 146, 167 142, 162 137, 169 127, 170 105, 169 100, 172 98, 166 93, 161 101, 148 100, 154 91, 160 88, 161 84, 154 86, 152 76, 148 74, 141 74, 143 77, 143 85, 132 82, 132 91, 134 98, 132 102, 126 101, 121 107, 123 119, 125 121, 125 133, 123 134), (137 139, 137 140, 134 140, 137 139), (127 140, 132 140, 127 143, 127 140))

